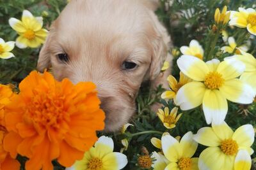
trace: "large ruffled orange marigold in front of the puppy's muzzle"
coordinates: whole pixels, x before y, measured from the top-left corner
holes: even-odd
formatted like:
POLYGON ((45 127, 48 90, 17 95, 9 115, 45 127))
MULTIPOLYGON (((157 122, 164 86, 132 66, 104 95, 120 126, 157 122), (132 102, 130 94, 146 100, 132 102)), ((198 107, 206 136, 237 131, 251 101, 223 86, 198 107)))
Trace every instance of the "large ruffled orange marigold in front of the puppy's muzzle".
POLYGON ((65 167, 83 159, 104 129, 95 85, 54 80, 33 71, 19 85, 20 93, 6 106, 4 149, 26 156, 26 170, 52 170, 57 159, 65 167))

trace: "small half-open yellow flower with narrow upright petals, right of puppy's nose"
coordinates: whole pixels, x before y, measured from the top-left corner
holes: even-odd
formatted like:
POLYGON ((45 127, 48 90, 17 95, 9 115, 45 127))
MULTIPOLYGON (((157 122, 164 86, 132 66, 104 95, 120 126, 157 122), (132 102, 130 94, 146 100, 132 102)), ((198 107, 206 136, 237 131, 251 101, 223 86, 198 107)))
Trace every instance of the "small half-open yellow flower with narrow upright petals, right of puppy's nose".
POLYGON ((157 116, 159 117, 161 122, 163 122, 164 127, 166 127, 167 129, 172 129, 176 126, 175 124, 178 122, 179 118, 182 115, 182 113, 177 115, 177 111, 178 108, 176 107, 173 108, 171 112, 169 112, 168 107, 165 107, 164 111, 161 109, 158 110, 157 116))

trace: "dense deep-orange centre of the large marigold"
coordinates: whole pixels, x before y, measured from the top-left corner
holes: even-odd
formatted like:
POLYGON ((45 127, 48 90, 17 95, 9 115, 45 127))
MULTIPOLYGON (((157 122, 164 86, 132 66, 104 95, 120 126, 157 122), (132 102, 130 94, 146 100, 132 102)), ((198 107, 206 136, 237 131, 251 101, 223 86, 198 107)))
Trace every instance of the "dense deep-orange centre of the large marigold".
MULTIPOLYGON (((28 104, 25 120, 32 120, 33 124, 49 129, 59 129, 63 121, 68 122, 69 115, 63 106, 64 97, 56 94, 56 92, 49 92, 44 94, 42 92, 34 92, 34 97, 28 104)), ((32 123, 31 122, 31 123, 32 123)))

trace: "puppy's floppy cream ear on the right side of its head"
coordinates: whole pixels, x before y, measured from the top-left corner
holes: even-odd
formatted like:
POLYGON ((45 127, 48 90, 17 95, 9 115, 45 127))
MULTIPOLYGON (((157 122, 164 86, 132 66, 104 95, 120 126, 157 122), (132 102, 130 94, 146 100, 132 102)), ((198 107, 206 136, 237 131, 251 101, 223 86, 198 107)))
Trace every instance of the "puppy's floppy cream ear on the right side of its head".
POLYGON ((168 49, 170 48, 170 36, 168 36, 166 29, 153 12, 152 19, 154 20, 154 36, 151 40, 152 54, 149 68, 150 80, 154 80, 160 73, 164 60, 166 60, 168 55, 168 49))

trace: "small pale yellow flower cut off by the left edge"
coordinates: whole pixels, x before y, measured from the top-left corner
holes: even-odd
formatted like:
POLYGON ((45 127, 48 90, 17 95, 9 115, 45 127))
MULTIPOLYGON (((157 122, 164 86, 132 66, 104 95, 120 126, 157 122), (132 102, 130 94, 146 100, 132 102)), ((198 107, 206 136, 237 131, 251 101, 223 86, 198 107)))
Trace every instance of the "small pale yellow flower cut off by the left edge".
POLYGON ((13 50, 15 45, 14 41, 5 42, 2 38, 0 38, 0 58, 1 59, 10 59, 15 57, 11 51, 13 50))

